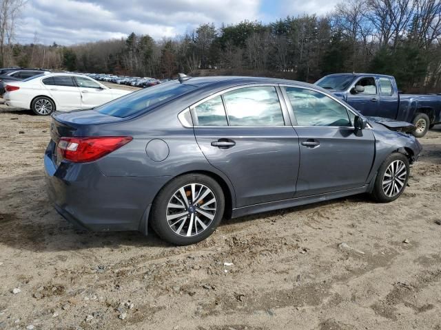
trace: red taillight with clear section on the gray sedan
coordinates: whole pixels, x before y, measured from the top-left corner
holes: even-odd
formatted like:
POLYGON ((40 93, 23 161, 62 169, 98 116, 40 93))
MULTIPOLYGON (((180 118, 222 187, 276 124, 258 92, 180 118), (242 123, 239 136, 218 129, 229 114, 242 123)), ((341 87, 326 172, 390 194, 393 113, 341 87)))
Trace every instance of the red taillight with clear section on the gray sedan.
POLYGON ((70 162, 93 162, 132 141, 131 136, 61 137, 58 154, 70 162))

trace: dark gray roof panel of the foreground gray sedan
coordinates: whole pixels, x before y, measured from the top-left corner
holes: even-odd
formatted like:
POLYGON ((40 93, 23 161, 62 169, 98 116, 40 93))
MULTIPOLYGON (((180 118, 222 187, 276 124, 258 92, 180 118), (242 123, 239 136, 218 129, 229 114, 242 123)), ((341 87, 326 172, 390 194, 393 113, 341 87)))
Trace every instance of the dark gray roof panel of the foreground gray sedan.
MULTIPOLYGON (((305 87, 312 86, 309 83, 302 83, 296 80, 287 80, 280 78, 250 77, 250 76, 208 76, 208 77, 191 77, 183 81, 185 85, 193 85, 196 87, 207 87, 216 85, 245 85, 245 84, 289 84, 302 85, 305 87)), ((314 88, 317 88, 314 86, 314 88)))

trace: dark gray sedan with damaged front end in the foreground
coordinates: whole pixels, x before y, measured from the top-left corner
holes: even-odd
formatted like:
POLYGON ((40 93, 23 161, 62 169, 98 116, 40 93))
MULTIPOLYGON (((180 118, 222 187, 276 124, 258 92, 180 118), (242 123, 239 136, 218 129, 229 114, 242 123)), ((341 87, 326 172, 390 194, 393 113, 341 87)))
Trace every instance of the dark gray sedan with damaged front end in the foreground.
POLYGON ((57 211, 90 230, 147 225, 176 245, 221 219, 369 193, 398 198, 421 145, 292 80, 191 78, 52 114, 45 151, 57 211))

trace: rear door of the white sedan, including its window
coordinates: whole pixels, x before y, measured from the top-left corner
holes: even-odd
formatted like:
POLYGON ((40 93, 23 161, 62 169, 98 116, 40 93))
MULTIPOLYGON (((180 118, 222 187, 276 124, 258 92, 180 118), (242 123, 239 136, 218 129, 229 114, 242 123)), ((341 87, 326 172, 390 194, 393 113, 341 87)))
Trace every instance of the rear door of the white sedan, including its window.
POLYGON ((41 82, 57 103, 57 110, 81 108, 80 90, 76 87, 72 76, 50 76, 43 78, 41 82))

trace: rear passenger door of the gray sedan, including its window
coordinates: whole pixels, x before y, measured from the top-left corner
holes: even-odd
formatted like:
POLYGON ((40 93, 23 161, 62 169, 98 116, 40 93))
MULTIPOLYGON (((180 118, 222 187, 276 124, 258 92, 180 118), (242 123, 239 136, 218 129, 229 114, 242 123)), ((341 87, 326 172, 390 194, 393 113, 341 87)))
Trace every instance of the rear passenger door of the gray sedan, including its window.
POLYGON ((276 86, 248 86, 191 107, 196 141, 232 181, 236 207, 294 196, 298 137, 280 96, 276 86))

